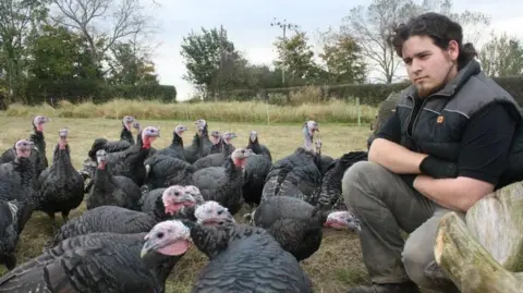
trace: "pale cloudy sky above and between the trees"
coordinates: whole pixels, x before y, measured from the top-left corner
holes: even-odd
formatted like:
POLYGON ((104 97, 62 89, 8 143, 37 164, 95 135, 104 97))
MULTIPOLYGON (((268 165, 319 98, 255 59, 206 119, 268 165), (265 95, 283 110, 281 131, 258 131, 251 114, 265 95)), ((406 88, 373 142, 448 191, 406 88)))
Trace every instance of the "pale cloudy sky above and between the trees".
MULTIPOLYGON (((254 64, 271 64, 276 58, 273 41, 282 35, 280 27, 270 26, 276 17, 287 20, 307 32, 311 45, 319 50, 317 32, 329 26, 338 27, 343 16, 356 5, 367 7, 370 0, 155 0, 160 7, 151 8, 157 33, 150 38, 155 49, 155 62, 160 84, 174 85, 178 100, 188 99, 195 91, 193 85, 182 78, 186 69, 180 54, 183 37, 200 27, 223 25, 228 38, 244 52, 254 64)), ((453 11, 483 12, 491 16, 497 33, 507 32, 523 40, 523 1, 521 0, 454 0, 453 11)), ((488 36, 487 36, 488 37, 488 36)), ((485 40, 484 38, 482 41, 485 40)), ((488 39, 486 39, 488 40, 488 39)), ((474 44, 479 48, 481 44, 474 44)), ((399 73, 402 73, 402 68, 399 73)), ((370 73, 370 75, 377 73, 370 73)))

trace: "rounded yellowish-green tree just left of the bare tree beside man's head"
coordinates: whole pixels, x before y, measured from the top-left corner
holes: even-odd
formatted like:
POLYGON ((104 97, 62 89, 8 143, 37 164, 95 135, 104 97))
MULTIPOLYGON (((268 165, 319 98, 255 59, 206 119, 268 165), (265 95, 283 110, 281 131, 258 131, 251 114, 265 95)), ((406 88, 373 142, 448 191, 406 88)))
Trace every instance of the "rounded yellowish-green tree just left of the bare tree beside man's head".
POLYGON ((363 83, 366 78, 366 64, 361 56, 362 48, 354 38, 346 35, 330 37, 319 57, 327 68, 329 83, 363 83))

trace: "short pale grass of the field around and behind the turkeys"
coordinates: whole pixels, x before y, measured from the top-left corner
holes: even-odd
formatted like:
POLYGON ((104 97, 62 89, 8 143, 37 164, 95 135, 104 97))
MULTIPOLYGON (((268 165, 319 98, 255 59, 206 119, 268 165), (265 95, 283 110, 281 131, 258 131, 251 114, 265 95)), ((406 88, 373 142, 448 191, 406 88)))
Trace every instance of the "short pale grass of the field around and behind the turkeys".
MULTIPOLYGON (((118 105, 115 102, 114 105, 118 105)), ((141 105, 139 102, 131 105, 141 105)), ((238 103, 241 105, 241 103, 238 103)), ((95 107, 95 106, 93 106, 95 107)), ((183 107, 183 106, 166 106, 166 107, 183 107)), ((200 106, 204 107, 204 106, 200 106)), ((221 110, 221 107, 214 106, 221 110)), ((19 108, 17 108, 19 109, 19 108)), ((24 108, 27 109, 27 108, 24 108)), ((104 108, 96 108, 104 109, 104 108)), ((124 108, 127 109, 127 108, 124 108)), ((118 112, 121 117, 126 114, 124 109, 114 108, 112 114, 118 112)), ((133 108, 136 111, 139 108, 133 108)), ((36 108, 27 110, 24 114, 36 113, 36 108)), ((50 108, 39 109, 38 113, 50 114, 50 108)), ((11 110, 12 111, 12 110, 11 110)), ((166 110, 167 111, 167 110, 166 110)), ((144 113, 129 112, 132 114, 144 113)), ((12 112, 11 112, 12 114, 12 112)), ((90 114, 86 112, 86 114, 90 114)), ((72 119, 72 118, 56 118, 51 115, 52 121, 46 124, 46 142, 47 156, 49 162, 52 160, 52 148, 54 147, 58 137, 58 130, 62 127, 70 129, 70 146, 72 151, 73 164, 80 169, 86 154, 96 137, 107 137, 110 139, 118 139, 121 129, 121 123, 118 120, 109 119, 72 119)), ((60 117, 60 115, 58 115, 60 117)), ((199 117, 197 117, 199 118, 199 117)), ((145 119, 141 117, 141 119, 145 119)), ((191 119, 196 119, 193 113, 191 119)), ((210 120, 210 119, 209 119, 210 120)), ((321 119, 317 120, 320 126, 318 136, 324 142, 323 154, 339 157, 349 150, 365 149, 365 142, 369 134, 368 125, 348 126, 344 124, 323 123, 321 119)), ((170 144, 172 138, 172 130, 178 123, 186 125, 190 131, 184 135, 185 142, 194 134, 194 124, 192 121, 183 120, 142 120, 143 126, 155 125, 159 126, 161 137, 159 137, 154 146, 161 148, 170 144)), ((0 133, 0 150, 12 147, 16 139, 28 137, 32 132, 31 119, 0 117, 0 125, 2 132, 0 133)), ((247 124, 247 123, 223 123, 209 122, 210 130, 233 131, 238 134, 238 138, 233 141, 236 147, 244 146, 247 143, 248 132, 256 130, 259 134, 260 143, 267 145, 275 159, 280 159, 291 154, 297 146, 302 145, 301 124, 247 124)), ((71 218, 81 215, 85 210, 85 206, 71 212, 71 218)), ((244 210, 241 210, 236 218, 241 218, 244 210)), ((57 217, 61 220, 60 216, 57 217)), ((19 247, 17 257, 19 265, 39 255, 42 245, 51 237, 52 229, 49 217, 42 212, 35 212, 33 218, 27 223, 19 247)), ((182 258, 172 271, 169 281, 168 290, 170 293, 185 293, 190 292, 192 281, 196 278, 198 270, 205 266, 207 259, 196 248, 192 247, 190 252, 182 258)), ((362 263, 360 241, 353 233, 342 231, 326 230, 321 247, 315 255, 302 263, 303 268, 311 276, 315 292, 321 293, 338 293, 346 292, 346 290, 355 284, 366 283, 368 277, 362 263)), ((0 266, 0 274, 3 273, 4 267, 0 266)))

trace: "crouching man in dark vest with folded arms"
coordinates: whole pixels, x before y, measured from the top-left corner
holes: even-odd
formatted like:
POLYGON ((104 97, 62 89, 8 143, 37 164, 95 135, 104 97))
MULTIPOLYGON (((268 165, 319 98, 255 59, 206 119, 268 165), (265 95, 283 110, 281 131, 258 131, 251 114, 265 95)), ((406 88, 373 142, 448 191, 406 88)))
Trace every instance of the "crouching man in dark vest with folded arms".
POLYGON ((412 85, 372 142, 368 161, 343 176, 373 281, 349 292, 459 292, 434 259, 439 220, 451 210, 464 215, 500 182, 519 106, 481 71, 448 17, 419 15, 392 42, 412 85), (406 242, 400 229, 410 233, 406 242))

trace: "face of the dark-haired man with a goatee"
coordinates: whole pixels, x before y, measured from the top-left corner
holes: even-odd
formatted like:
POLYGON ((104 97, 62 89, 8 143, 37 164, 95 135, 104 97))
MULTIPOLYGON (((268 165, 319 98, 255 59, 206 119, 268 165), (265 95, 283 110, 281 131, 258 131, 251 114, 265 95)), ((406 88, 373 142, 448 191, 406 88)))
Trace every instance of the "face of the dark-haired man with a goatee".
POLYGON ((409 78, 418 96, 426 97, 455 76, 459 54, 458 42, 451 40, 442 50, 427 36, 411 36, 403 42, 402 56, 409 78))

